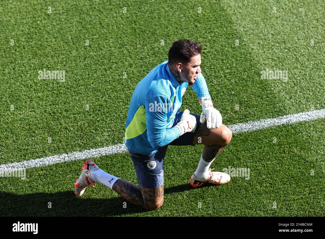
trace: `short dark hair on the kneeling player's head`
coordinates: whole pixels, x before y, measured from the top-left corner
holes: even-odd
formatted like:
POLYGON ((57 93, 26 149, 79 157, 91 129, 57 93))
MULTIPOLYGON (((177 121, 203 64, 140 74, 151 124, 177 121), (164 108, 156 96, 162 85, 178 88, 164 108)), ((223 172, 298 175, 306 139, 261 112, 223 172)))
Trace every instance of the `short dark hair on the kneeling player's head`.
POLYGON ((199 43, 187 39, 173 42, 168 52, 168 66, 177 62, 188 63, 190 59, 201 54, 202 47, 199 43))

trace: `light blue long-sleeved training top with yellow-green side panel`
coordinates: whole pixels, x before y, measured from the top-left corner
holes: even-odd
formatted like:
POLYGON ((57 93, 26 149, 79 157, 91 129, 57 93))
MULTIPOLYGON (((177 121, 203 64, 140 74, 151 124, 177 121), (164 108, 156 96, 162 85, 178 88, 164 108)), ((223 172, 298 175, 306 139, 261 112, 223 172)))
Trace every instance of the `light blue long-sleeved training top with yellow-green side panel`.
MULTIPOLYGON (((126 147, 150 155, 180 135, 172 127, 182 105, 188 83, 179 84, 168 67, 168 60, 153 68, 132 94, 125 125, 126 147)), ((211 98, 205 79, 198 74, 192 86, 197 96, 211 98)))

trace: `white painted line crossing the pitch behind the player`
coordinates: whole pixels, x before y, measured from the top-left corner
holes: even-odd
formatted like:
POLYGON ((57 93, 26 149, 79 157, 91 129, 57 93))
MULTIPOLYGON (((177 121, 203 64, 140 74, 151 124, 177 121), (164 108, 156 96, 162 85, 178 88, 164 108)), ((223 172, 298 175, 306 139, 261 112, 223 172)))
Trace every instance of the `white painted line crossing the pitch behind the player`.
MULTIPOLYGON (((258 129, 264 129, 267 127, 285 125, 285 124, 293 124, 301 121, 315 120, 325 118, 325 109, 314 110, 304 113, 297 114, 288 114, 284 116, 280 116, 272 119, 262 119, 258 121, 250 121, 247 123, 239 123, 236 125, 229 125, 229 129, 233 132, 233 134, 238 134, 242 132, 250 132, 258 129)), ((9 164, 0 165, 0 173, 3 172, 11 172, 19 169, 27 169, 32 167, 41 167, 47 166, 57 163, 69 162, 73 160, 79 159, 88 159, 88 158, 96 158, 104 155, 110 155, 115 153, 126 153, 127 148, 124 144, 111 145, 104 148, 99 149, 90 149, 84 150, 80 152, 72 152, 72 153, 64 153, 54 156, 47 156, 44 158, 31 159, 22 162, 15 162, 9 164)))

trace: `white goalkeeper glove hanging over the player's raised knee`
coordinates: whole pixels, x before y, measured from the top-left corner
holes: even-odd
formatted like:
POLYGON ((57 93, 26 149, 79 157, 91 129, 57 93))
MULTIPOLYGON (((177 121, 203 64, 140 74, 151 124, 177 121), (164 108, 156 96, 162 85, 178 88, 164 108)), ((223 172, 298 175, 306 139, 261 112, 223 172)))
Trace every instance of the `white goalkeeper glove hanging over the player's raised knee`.
POLYGON ((213 107, 212 100, 208 97, 201 97, 199 98, 199 102, 202 106, 200 122, 203 124, 206 117, 207 128, 219 128, 222 124, 222 116, 220 112, 213 107))

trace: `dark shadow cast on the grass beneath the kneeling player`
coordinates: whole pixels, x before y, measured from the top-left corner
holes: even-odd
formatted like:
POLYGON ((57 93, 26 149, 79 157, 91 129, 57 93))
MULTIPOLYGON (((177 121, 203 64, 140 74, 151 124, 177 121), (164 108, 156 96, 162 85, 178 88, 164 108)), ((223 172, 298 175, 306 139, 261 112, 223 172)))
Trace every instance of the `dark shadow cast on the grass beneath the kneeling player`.
MULTIPOLYGON (((214 185, 211 185, 214 186, 214 185)), ((206 187, 206 186, 203 186, 206 187)), ((192 190, 189 184, 165 188, 164 194, 192 190)), ((58 193, 14 194, 0 192, 0 215, 9 217, 55 217, 55 216, 123 216, 148 212, 123 197, 86 198, 76 197, 72 191, 58 193), (52 208, 48 208, 49 202, 52 208), (123 208, 123 202, 126 208, 123 208)), ((158 209, 159 210, 159 209, 158 209)), ((145 216, 145 215, 144 215, 145 216)))

